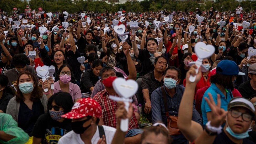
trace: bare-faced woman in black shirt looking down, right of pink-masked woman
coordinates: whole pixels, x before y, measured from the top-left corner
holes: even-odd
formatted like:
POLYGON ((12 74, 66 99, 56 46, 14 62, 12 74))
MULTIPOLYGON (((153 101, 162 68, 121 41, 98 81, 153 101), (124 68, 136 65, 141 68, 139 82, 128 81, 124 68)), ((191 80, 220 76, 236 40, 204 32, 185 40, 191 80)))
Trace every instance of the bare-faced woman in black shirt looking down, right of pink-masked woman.
POLYGON ((81 88, 83 93, 93 91, 95 84, 100 79, 99 74, 102 68, 102 61, 97 59, 92 63, 92 68, 84 72, 81 78, 81 85, 84 87, 84 89, 81 88))

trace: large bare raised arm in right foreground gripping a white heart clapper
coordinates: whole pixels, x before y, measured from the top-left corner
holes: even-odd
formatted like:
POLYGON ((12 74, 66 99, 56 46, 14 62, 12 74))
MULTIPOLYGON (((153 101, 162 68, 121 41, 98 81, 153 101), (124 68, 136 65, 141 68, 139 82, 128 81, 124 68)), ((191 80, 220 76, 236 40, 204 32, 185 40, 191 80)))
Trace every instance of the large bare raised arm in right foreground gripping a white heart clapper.
POLYGON ((194 141, 203 131, 202 126, 195 121, 192 121, 193 114, 193 101, 196 84, 202 77, 201 68, 199 68, 198 74, 196 74, 196 65, 190 67, 189 71, 186 73, 186 87, 183 93, 179 114, 178 114, 178 127, 182 134, 189 140, 194 141), (190 76, 196 76, 195 82, 190 82, 190 76))

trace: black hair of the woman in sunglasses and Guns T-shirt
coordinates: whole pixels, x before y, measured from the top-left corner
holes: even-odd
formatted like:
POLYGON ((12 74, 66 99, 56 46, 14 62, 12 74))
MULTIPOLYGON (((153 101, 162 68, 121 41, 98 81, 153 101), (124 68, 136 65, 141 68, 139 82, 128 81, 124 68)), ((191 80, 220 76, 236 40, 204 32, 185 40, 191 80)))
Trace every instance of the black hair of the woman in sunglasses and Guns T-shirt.
POLYGON ((74 105, 71 95, 67 92, 58 92, 53 94, 48 99, 48 109, 49 105, 51 105, 53 101, 56 105, 61 106, 65 113, 70 112, 74 105))

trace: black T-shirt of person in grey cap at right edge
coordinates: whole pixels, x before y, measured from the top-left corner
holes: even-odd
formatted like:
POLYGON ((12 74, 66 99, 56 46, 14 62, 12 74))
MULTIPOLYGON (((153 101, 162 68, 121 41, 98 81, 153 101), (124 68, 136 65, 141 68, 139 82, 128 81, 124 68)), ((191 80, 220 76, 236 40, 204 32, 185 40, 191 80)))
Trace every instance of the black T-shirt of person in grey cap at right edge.
POLYGON ((247 99, 251 98, 251 96, 256 93, 256 90, 254 90, 250 84, 250 80, 242 83, 238 91, 241 93, 242 97, 247 99))

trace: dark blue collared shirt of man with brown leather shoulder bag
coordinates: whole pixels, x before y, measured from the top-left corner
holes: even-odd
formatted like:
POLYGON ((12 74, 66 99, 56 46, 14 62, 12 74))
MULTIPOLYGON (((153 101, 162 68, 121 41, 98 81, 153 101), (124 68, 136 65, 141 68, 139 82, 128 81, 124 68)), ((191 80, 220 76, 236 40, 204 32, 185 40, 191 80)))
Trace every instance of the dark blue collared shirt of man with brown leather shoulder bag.
MULTIPOLYGON (((175 86, 175 94, 173 98, 169 96, 167 93, 165 86, 164 91, 167 97, 167 105, 169 110, 169 115, 178 116, 179 106, 182 99, 182 95, 184 93, 185 88, 181 85, 175 86)), ((151 94, 151 111, 152 111, 152 123, 163 122, 167 126, 167 117, 164 108, 164 101, 162 96, 161 87, 158 87, 151 94)), ((192 120, 201 123, 202 119, 199 113, 196 111, 195 106, 193 106, 193 116, 192 120)))

